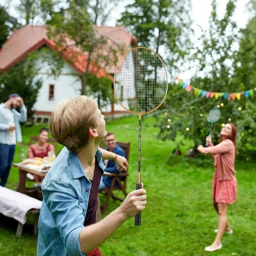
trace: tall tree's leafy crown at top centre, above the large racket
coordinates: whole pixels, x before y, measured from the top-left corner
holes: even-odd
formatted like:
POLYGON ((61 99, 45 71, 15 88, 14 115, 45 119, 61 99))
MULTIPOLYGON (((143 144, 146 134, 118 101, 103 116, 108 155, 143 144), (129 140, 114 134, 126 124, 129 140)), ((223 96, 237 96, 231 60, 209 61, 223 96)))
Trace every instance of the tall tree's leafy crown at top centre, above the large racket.
POLYGON ((183 57, 188 46, 190 1, 135 0, 117 21, 137 38, 139 46, 162 54, 166 64, 183 57))

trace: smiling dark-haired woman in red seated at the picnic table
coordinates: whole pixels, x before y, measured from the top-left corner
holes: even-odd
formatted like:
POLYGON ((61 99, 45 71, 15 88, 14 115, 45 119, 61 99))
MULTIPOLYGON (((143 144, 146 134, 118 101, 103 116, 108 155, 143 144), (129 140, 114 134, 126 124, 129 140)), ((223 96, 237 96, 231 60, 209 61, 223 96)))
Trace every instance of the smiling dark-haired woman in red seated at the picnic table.
MULTIPOLYGON (((54 152, 54 147, 52 144, 46 143, 49 138, 49 131, 47 128, 43 127, 39 130, 38 134, 38 142, 32 144, 28 148, 28 158, 48 156, 48 152, 54 152)), ((34 187, 39 187, 40 177, 38 175, 34 175, 36 184, 34 187)))

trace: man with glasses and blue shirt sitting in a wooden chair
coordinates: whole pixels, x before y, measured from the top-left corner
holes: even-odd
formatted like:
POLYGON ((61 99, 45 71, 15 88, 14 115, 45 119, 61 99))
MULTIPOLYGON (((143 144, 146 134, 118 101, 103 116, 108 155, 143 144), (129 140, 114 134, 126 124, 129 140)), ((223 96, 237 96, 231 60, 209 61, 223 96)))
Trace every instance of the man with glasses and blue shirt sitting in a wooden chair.
MULTIPOLYGON (((107 136, 105 137, 104 141, 105 141, 105 144, 107 145, 107 148, 105 148, 106 150, 111 151, 116 155, 125 157, 123 148, 119 147, 116 144, 116 138, 112 132, 107 133, 107 136)), ((120 171, 117 169, 117 165, 115 161, 105 160, 104 168, 105 168, 105 172, 120 173, 120 171)), ((99 190, 103 188, 110 188, 111 182, 112 182, 111 177, 107 177, 107 176, 101 177, 99 190)), ((118 184, 115 184, 115 186, 118 186, 118 184)))

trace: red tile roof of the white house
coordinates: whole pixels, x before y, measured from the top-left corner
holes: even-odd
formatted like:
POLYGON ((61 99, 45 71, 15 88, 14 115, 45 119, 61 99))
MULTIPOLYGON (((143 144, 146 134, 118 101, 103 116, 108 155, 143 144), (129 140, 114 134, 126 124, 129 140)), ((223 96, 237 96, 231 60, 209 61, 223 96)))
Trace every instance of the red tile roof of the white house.
MULTIPOLYGON (((127 51, 132 42, 136 45, 136 39, 125 30, 124 27, 98 27, 95 26, 99 35, 108 37, 108 46, 117 49, 116 44, 121 45, 123 51, 118 52, 118 59, 121 58, 124 51, 127 51)), ((0 73, 8 70, 24 59, 28 53, 33 52, 42 45, 46 44, 52 50, 55 49, 55 43, 47 38, 47 31, 45 26, 31 26, 27 25, 12 33, 10 38, 5 42, 0 50, 0 73)), ((101 50, 103 54, 109 54, 108 47, 101 50)), ((79 73, 83 73, 86 68, 88 55, 86 53, 78 52, 72 48, 68 48, 62 52, 65 60, 72 60, 72 56, 76 55, 76 61, 73 67, 79 73)), ((115 66, 108 65, 105 67, 108 74, 115 73, 115 66)), ((102 68, 97 68, 95 63, 91 62, 89 66, 91 73, 97 73, 97 76, 106 76, 102 68)))

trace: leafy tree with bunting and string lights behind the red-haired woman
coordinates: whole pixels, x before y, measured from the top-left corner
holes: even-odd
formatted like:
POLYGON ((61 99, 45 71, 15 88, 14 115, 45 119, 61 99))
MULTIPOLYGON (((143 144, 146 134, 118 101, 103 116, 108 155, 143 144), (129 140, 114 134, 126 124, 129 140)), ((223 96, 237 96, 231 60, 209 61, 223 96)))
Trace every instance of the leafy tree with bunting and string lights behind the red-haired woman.
MULTIPOLYGON (((196 75, 191 78, 191 86, 210 92, 241 92, 255 87, 249 81, 241 83, 243 76, 247 76, 247 70, 242 70, 237 66, 236 58, 245 56, 240 49, 234 47, 239 43, 241 33, 232 20, 236 1, 229 0, 226 12, 222 19, 217 18, 216 1, 212 1, 212 13, 209 19, 210 31, 202 31, 199 40, 202 42, 200 49, 193 55, 193 60, 197 63, 196 75)), ((241 100, 206 99, 205 96, 196 96, 180 88, 181 84, 170 84, 165 106, 168 113, 161 120, 158 137, 162 140, 175 140, 177 134, 182 134, 184 138, 194 142, 194 149, 197 145, 205 143, 205 137, 209 132, 210 124, 206 121, 208 111, 223 103, 220 106, 221 118, 214 125, 213 139, 218 142, 219 131, 222 123, 231 122, 238 127, 237 148, 240 155, 247 157, 255 154, 255 121, 252 112, 255 107, 251 98, 242 97, 241 100), (240 108, 241 110, 239 110, 240 108), (171 122, 168 122, 171 119, 171 122), (167 124, 170 128, 167 128, 167 124), (248 128, 247 128, 248 127, 248 128), (186 129, 188 128, 188 129, 186 129), (243 141, 243 138, 248 137, 243 141), (250 138, 250 139, 249 139, 250 138), (245 142, 245 143, 244 143, 245 142)), ((200 92, 200 91, 199 91, 200 92)))

